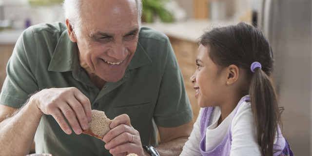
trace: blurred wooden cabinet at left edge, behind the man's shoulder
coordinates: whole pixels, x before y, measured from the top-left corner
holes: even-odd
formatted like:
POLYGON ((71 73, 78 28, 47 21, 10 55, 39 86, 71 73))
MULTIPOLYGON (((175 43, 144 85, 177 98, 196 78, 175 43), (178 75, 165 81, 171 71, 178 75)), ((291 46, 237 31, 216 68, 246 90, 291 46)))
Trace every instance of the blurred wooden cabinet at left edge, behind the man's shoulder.
POLYGON ((0 44, 0 92, 6 77, 6 64, 10 59, 15 44, 0 44))

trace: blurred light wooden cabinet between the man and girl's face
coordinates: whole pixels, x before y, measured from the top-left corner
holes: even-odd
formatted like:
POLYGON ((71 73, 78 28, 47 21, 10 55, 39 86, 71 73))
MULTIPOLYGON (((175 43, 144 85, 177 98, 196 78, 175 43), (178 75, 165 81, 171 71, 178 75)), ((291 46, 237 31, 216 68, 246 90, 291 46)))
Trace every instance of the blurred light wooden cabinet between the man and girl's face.
POLYGON ((193 76, 196 70, 195 60, 197 56, 198 45, 194 41, 188 41, 170 36, 168 37, 175 51, 176 59, 181 69, 186 93, 190 99, 193 109, 193 122, 195 122, 199 114, 200 107, 197 104, 197 99, 195 98, 195 89, 193 88, 193 83, 191 83, 190 78, 193 76))

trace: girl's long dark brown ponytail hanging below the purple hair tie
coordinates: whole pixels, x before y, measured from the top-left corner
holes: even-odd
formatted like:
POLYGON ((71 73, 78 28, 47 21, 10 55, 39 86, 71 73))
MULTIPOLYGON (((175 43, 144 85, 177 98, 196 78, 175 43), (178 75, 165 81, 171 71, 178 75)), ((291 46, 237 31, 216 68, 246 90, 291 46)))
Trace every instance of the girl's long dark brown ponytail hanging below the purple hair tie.
POLYGON ((280 114, 273 85, 261 68, 255 68, 251 79, 249 95, 258 144, 262 156, 273 156, 273 142, 280 114))

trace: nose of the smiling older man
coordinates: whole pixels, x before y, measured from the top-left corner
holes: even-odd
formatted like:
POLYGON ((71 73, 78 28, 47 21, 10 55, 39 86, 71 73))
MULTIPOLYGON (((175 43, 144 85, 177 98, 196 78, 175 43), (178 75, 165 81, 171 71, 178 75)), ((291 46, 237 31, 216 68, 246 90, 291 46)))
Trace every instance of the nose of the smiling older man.
POLYGON ((110 57, 113 57, 118 60, 122 60, 125 58, 127 53, 128 53, 128 49, 125 47, 122 40, 120 40, 120 41, 115 41, 113 43, 111 50, 107 54, 110 57))

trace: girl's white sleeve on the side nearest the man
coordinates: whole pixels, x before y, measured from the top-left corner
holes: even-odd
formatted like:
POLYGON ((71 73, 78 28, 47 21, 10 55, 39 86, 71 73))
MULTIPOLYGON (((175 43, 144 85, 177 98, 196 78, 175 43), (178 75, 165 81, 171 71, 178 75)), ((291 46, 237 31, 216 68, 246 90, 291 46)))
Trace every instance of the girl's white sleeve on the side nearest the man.
POLYGON ((199 122, 202 111, 203 108, 200 108, 191 136, 189 137, 189 140, 186 141, 180 156, 202 156, 199 150, 199 143, 201 141, 199 122))

